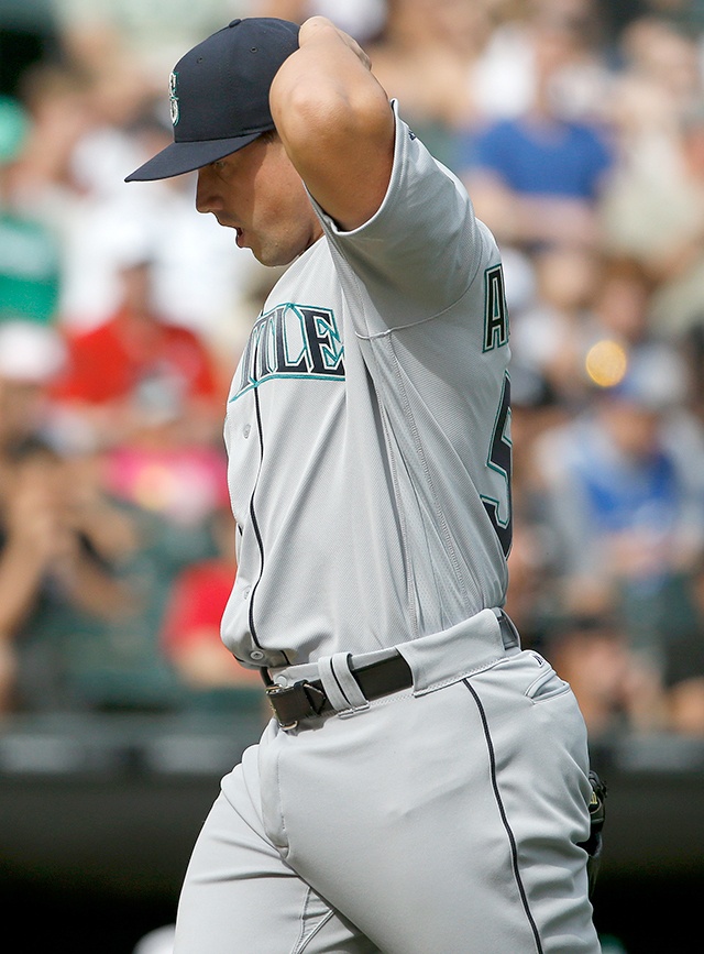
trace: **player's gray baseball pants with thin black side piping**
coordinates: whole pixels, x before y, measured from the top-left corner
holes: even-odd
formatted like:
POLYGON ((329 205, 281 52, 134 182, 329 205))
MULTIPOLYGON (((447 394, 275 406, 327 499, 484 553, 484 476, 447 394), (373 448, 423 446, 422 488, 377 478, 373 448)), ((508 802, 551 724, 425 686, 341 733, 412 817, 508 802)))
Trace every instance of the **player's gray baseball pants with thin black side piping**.
POLYGON ((399 650, 414 688, 372 703, 342 656, 282 673, 337 668, 340 711, 290 732, 273 721, 226 776, 176 954, 601 951, 570 687, 505 649, 493 611, 399 650))

